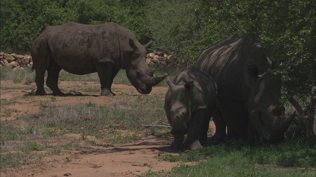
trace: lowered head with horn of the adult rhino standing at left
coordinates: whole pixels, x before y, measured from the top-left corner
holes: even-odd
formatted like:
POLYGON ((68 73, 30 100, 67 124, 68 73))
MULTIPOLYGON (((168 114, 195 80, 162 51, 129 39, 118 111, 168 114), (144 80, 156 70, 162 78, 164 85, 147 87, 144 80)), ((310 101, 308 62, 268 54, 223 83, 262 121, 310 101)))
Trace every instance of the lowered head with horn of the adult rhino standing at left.
POLYGON ((151 40, 142 46, 139 42, 129 39, 129 47, 132 50, 124 54, 124 63, 126 66, 126 76, 130 83, 141 94, 148 94, 152 87, 156 86, 164 79, 163 77, 154 77, 155 69, 150 69, 146 63, 147 48, 153 43, 151 40), (128 60, 127 60, 128 59, 128 60))

